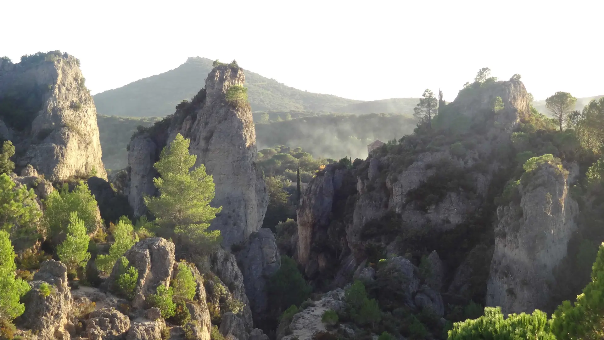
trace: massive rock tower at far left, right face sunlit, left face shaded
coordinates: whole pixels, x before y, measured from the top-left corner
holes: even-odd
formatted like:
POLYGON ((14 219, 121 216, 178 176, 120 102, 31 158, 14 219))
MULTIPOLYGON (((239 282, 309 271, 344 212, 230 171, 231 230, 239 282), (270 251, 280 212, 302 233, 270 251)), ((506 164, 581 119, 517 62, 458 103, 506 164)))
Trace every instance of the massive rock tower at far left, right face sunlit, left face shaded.
POLYGON ((46 178, 106 178, 97 112, 79 60, 53 51, 0 69, 0 131, 16 148, 16 165, 46 178), (2 109, 0 109, 2 110, 2 109))

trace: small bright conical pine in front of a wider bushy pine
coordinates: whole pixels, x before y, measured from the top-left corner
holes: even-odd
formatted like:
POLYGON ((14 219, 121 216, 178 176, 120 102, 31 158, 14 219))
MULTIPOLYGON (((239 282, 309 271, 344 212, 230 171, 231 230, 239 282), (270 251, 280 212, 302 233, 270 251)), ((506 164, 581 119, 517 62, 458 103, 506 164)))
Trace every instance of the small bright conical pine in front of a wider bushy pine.
POLYGON ((67 266, 68 273, 76 273, 78 267, 86 267, 86 263, 90 260, 89 242, 90 237, 86 234, 84 221, 77 217, 77 212, 71 212, 67 237, 57 246, 57 256, 67 266))

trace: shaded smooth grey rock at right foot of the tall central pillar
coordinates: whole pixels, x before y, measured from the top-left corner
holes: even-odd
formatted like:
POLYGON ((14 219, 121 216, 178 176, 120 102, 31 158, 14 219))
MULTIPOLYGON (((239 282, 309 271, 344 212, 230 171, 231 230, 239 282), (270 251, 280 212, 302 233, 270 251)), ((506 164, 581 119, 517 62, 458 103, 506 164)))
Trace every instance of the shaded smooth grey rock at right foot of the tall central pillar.
POLYGON ((237 255, 242 267, 243 284, 256 325, 268 316, 268 281, 281 266, 275 235, 262 228, 251 235, 248 246, 237 255))

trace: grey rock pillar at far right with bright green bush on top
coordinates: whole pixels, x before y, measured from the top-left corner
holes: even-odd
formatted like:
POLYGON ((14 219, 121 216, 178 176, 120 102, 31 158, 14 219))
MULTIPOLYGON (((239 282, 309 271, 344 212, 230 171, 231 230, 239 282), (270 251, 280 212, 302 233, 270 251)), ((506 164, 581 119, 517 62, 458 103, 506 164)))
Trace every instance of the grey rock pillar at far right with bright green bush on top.
POLYGON ((546 309, 553 269, 567 255, 579 209, 568 192, 568 172, 553 159, 525 173, 519 201, 497 209, 495 251, 487 284, 488 306, 503 313, 546 309))

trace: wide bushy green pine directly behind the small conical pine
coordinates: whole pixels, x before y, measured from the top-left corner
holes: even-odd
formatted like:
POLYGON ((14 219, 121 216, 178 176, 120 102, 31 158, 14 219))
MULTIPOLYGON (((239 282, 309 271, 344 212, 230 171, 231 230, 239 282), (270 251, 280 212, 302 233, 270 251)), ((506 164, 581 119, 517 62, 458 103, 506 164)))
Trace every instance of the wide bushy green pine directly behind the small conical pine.
POLYGON ((51 192, 43 203, 48 234, 52 238, 66 232, 71 212, 77 212, 78 218, 86 226, 86 232, 91 233, 97 229, 97 200, 86 183, 79 183, 71 192, 67 183, 64 183, 60 190, 51 192))

